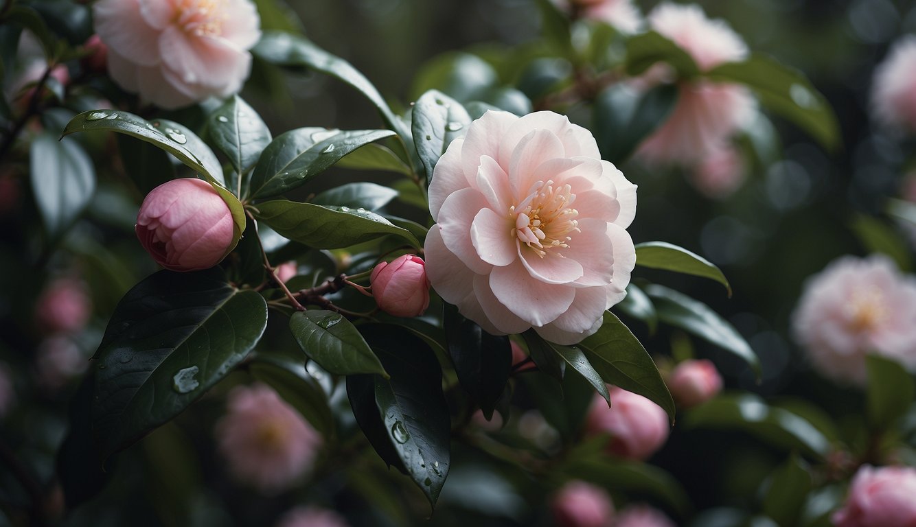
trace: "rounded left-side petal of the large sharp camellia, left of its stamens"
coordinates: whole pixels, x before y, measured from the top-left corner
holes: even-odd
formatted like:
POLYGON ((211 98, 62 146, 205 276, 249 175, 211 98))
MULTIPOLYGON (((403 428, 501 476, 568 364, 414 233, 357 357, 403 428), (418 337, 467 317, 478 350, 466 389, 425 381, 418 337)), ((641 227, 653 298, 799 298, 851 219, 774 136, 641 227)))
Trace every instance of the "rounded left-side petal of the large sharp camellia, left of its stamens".
POLYGON ((445 246, 476 274, 487 274, 491 267, 480 259, 470 235, 474 211, 485 207, 486 200, 479 191, 463 188, 445 199, 439 214, 439 227, 442 229, 445 246))

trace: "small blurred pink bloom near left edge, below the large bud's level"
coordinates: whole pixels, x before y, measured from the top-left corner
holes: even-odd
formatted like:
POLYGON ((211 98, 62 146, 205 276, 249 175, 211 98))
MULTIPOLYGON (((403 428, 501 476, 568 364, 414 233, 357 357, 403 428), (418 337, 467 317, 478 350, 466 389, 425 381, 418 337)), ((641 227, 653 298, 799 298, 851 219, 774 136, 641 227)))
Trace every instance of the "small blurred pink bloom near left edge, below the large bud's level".
POLYGON ((73 278, 57 278, 45 286, 35 304, 35 322, 49 333, 75 333, 92 314, 93 304, 85 285, 73 278))

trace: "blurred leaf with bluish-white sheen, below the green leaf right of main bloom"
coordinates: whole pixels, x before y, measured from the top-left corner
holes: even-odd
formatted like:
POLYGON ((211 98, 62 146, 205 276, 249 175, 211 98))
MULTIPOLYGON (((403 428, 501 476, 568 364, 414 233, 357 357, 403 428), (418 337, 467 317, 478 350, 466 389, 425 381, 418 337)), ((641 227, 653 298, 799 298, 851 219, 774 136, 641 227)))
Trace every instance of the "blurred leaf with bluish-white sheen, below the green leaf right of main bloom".
POLYGON ((734 353, 747 361, 757 375, 760 375, 760 360, 747 344, 747 340, 709 306, 663 285, 649 285, 646 287, 646 294, 655 304, 662 322, 682 328, 723 350, 734 353))

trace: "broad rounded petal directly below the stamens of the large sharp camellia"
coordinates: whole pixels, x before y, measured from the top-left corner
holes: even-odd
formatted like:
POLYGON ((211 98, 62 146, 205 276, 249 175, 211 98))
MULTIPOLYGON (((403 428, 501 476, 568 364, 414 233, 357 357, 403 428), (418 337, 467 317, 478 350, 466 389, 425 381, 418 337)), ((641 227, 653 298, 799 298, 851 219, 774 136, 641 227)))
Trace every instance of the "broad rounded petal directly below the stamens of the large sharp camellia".
POLYGON ((501 304, 532 326, 552 322, 573 303, 575 296, 573 287, 546 284, 531 278, 521 262, 494 267, 490 273, 490 287, 501 304))

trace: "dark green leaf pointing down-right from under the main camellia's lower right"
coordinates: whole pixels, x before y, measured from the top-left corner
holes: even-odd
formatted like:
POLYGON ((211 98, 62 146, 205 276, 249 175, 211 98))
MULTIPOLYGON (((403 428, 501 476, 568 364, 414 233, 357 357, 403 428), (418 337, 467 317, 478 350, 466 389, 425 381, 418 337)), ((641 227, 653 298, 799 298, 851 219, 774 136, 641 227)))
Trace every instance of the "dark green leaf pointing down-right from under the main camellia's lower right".
POLYGON ((605 311, 601 328, 578 347, 605 382, 649 398, 674 422, 674 401, 661 380, 658 367, 649 352, 613 313, 605 311))

